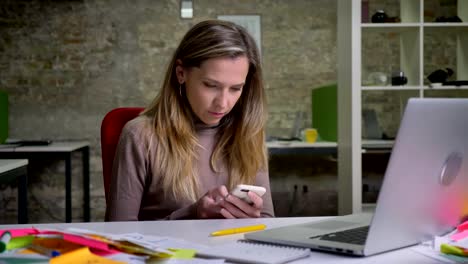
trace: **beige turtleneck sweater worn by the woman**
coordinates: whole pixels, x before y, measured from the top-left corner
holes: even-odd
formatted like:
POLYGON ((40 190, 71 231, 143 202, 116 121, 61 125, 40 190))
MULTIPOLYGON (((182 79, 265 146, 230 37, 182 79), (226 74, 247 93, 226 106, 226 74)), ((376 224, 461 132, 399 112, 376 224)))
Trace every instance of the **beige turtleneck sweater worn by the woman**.
MULTIPOLYGON (((128 122, 122 130, 117 146, 110 186, 110 199, 106 208, 106 221, 144 221, 160 219, 196 219, 195 203, 176 201, 160 184, 162 175, 153 171, 154 149, 148 151, 151 120, 140 116, 128 122)), ((197 129, 199 143, 198 168, 200 193, 220 185, 227 185, 226 170, 215 172, 210 167, 210 158, 215 146, 217 128, 197 129)), ((154 140, 154 139, 153 139, 154 140)), ((153 148, 157 144, 151 144, 153 148)), ((267 192, 263 196, 262 217, 273 217, 268 172, 257 174, 255 185, 263 186, 267 192)))

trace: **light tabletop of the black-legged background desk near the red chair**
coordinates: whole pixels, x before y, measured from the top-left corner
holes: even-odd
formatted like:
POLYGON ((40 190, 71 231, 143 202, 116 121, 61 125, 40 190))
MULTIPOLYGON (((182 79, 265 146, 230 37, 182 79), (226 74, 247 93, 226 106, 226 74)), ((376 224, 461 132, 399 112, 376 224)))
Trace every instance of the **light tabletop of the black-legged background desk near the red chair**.
POLYGON ((73 152, 89 146, 87 141, 52 141, 46 146, 12 146, 2 145, 0 152, 73 152))

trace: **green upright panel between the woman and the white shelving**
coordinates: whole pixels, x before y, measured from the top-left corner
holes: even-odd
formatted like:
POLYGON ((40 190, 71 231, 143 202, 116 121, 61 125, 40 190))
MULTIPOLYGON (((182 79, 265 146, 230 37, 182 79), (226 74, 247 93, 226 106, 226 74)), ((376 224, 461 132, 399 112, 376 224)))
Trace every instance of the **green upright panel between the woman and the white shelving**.
POLYGON ((312 89, 312 127, 321 140, 337 141, 336 84, 312 89))

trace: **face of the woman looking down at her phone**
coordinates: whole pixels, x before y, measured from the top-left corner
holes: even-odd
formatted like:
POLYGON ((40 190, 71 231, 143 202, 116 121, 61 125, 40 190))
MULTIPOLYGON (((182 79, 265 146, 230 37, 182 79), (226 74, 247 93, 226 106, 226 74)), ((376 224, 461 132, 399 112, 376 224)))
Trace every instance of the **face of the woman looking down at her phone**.
POLYGON ((242 94, 248 71, 246 56, 213 58, 200 67, 176 67, 192 111, 207 125, 218 124, 232 110, 242 94))

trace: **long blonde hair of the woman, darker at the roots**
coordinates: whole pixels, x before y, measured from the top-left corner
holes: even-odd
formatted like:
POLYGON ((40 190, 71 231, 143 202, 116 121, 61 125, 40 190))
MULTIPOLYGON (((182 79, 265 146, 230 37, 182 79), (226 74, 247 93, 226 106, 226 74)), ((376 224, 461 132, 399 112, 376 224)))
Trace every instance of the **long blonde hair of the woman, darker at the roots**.
POLYGON ((218 129, 211 168, 226 164, 228 188, 252 184, 259 170, 267 170, 265 147, 266 99, 257 46, 247 31, 231 22, 207 20, 196 24, 184 36, 167 68, 158 96, 142 113, 152 118, 157 142, 154 172, 162 175, 165 190, 179 199, 196 201, 199 180, 195 116, 182 91, 175 69, 176 60, 184 67, 200 67, 218 57, 246 56, 249 71, 245 85, 231 112, 218 129))

